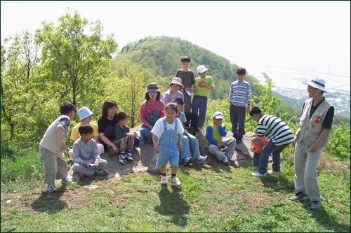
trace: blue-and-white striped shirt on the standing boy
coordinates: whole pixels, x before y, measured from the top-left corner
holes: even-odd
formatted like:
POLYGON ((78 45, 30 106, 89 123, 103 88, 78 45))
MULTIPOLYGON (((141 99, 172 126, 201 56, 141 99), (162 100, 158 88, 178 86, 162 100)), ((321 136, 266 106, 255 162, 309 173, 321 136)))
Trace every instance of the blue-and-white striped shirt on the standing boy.
POLYGON ((229 101, 234 106, 246 107, 251 105, 251 86, 246 80, 232 82, 229 92, 229 101))

